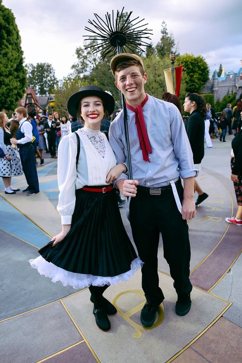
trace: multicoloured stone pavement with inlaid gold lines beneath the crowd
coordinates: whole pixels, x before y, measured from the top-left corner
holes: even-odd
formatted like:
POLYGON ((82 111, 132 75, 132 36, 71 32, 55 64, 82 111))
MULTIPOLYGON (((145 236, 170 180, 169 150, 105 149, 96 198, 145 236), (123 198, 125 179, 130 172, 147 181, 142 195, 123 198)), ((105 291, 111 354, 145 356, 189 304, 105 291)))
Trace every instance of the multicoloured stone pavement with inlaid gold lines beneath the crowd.
MULTIPOLYGON (((140 272, 111 286, 105 296, 116 305, 112 328, 94 324, 87 289, 74 290, 30 268, 28 260, 59 232, 56 211, 57 163, 45 155, 38 166, 40 193, 6 195, 0 181, 0 361, 8 362, 239 362, 242 357, 242 228, 228 225, 236 200, 230 181, 232 136, 213 140, 205 150, 199 183, 209 194, 189 221, 192 308, 178 317, 176 293, 163 258, 158 254, 160 286, 165 300, 152 328, 140 325, 144 296, 140 272)), ((25 177, 13 179, 21 189, 25 177)), ((131 237, 125 208, 120 209, 131 237)), ((131 237, 132 238, 132 237, 131 237)))

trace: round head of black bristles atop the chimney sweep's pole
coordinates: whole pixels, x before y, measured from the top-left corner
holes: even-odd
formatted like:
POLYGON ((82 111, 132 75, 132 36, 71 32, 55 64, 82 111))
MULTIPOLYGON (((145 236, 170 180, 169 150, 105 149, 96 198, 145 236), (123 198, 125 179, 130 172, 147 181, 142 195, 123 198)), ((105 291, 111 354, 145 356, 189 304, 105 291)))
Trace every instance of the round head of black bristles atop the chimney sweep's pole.
POLYGON ((127 49, 130 51, 138 50, 143 52, 141 47, 151 47, 149 43, 143 39, 151 40, 148 36, 152 30, 143 28, 148 24, 140 24, 144 19, 136 21, 139 16, 130 19, 132 11, 128 14, 124 24, 120 24, 124 13, 124 8, 121 12, 117 10, 116 19, 114 20, 114 12, 112 16, 108 12, 103 20, 98 14, 94 13, 95 19, 88 19, 89 24, 94 27, 90 29, 85 27, 85 30, 91 32, 92 35, 84 35, 85 40, 96 40, 96 44, 88 46, 85 49, 93 48, 93 53, 101 53, 101 58, 104 59, 109 53, 110 57, 116 53, 126 53, 127 49), (136 21, 136 22, 135 22, 136 21), (141 29, 142 28, 142 29, 141 29), (118 52, 119 51, 119 52, 118 52))

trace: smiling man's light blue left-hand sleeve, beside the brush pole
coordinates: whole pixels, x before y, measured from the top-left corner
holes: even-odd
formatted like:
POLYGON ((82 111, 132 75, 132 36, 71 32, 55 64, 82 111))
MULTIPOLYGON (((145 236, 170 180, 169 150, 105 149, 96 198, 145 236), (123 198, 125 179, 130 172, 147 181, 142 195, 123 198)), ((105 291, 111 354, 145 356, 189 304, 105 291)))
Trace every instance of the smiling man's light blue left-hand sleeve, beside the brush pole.
MULTIPOLYGON (((117 124, 115 125, 111 123, 109 128, 109 143, 111 145, 111 148, 113 149, 114 155, 116 157, 117 164, 124 164, 128 170, 126 156, 124 152, 124 144, 122 141, 122 130, 121 128, 117 127, 117 124)), ((122 173, 119 175, 117 179, 113 181, 113 184, 115 185, 117 180, 120 179, 128 179, 127 173, 122 173)))

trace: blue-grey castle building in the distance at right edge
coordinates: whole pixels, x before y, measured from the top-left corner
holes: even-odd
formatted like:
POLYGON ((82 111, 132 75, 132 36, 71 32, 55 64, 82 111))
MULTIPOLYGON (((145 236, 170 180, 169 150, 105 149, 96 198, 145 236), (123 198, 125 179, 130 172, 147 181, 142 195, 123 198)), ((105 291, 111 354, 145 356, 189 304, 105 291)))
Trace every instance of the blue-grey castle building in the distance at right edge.
POLYGON ((226 73, 225 69, 220 77, 214 71, 212 78, 204 85, 202 94, 211 93, 214 95, 214 101, 222 98, 228 93, 236 92, 237 98, 242 93, 242 59, 240 60, 240 68, 237 73, 230 71, 226 73))

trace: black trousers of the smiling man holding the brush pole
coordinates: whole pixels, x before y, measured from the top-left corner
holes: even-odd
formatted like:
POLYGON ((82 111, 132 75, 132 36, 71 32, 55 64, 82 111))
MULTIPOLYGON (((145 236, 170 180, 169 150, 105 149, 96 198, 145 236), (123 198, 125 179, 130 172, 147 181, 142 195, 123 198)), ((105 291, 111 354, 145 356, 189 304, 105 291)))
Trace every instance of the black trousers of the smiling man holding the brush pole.
MULTIPOLYGON (((182 200, 181 182, 176 183, 182 200)), ((170 266, 179 295, 192 289, 189 280, 190 243, 187 222, 177 209, 172 189, 162 190, 161 195, 150 195, 138 188, 136 197, 130 201, 130 224, 142 267, 142 289, 146 298, 160 304, 164 295, 159 287, 158 244, 162 234, 164 258, 170 266)))

